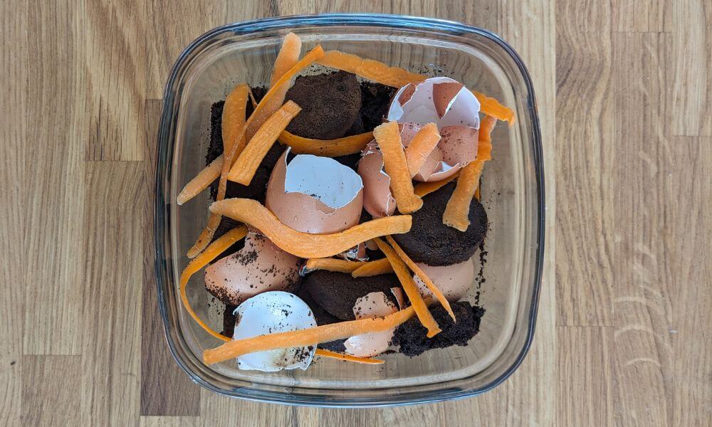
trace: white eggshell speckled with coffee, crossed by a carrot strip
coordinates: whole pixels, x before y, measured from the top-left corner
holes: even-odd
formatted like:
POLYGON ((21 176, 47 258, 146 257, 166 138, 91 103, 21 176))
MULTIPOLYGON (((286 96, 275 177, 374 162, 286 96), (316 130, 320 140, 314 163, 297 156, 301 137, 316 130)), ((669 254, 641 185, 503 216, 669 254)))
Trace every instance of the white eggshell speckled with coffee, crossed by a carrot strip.
MULTIPOLYGON (((237 321, 233 339, 257 337, 302 330, 316 326, 314 315, 306 303, 289 292, 264 292, 243 302, 236 308, 237 321)), ((273 349, 243 354, 237 358, 239 369, 281 371, 307 369, 316 346, 273 349)))

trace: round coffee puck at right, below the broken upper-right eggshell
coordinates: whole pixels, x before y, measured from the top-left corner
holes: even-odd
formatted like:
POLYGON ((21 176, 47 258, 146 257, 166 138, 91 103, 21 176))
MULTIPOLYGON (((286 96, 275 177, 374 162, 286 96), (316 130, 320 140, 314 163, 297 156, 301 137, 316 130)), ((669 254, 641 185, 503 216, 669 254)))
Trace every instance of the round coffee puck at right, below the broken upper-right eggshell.
POLYGON ((487 233, 487 213, 477 199, 470 203, 470 226, 462 232, 443 223, 447 201, 455 183, 423 197, 423 207, 412 214, 413 226, 408 233, 394 234, 403 251, 417 263, 451 265, 471 258, 487 233))

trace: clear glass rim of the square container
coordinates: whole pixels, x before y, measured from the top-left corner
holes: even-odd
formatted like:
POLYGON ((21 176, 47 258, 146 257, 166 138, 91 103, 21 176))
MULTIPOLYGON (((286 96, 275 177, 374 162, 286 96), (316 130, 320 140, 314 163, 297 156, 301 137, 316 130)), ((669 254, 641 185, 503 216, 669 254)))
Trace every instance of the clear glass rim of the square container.
MULTIPOLYGON (((498 36, 496 33, 485 30, 483 28, 478 28, 475 26, 468 26, 464 23, 458 23, 455 21, 448 21, 444 19, 434 19, 434 18, 423 18, 416 16, 406 16, 406 15, 392 15, 392 14, 319 14, 319 15, 299 15, 299 16, 281 16, 272 17, 265 19, 254 19, 250 21, 242 21, 237 23, 229 23, 224 26, 219 26, 211 31, 208 31, 198 38, 196 38, 192 43, 190 43, 187 48, 182 51, 178 56, 176 62, 174 63, 167 83, 164 87, 164 97, 162 105, 162 115, 159 125, 158 132, 158 144, 157 144, 157 162, 156 162, 156 182, 155 182, 155 212, 154 212, 154 239, 155 239, 155 279, 157 286, 157 300, 159 306, 159 312, 162 317, 164 334, 167 340, 169 350, 177 362, 178 366, 185 371, 192 381, 204 388, 214 391, 217 394, 224 396, 230 396, 239 399, 246 399, 251 401, 260 402, 270 402, 294 406, 316 406, 316 407, 379 407, 379 406, 402 406, 409 404, 428 404, 439 401, 449 401, 456 399, 464 399, 471 396, 477 396, 486 391, 493 389, 494 387, 505 381, 513 372, 518 369, 520 364, 523 362, 526 354, 528 353, 534 336, 537 312, 538 312, 538 302, 539 293, 541 287, 541 276, 543 270, 543 255, 544 255, 544 243, 545 243, 545 189, 544 189, 544 162, 543 162, 543 152, 541 146, 541 136, 540 127, 538 121, 537 107, 535 102, 535 95, 533 84, 528 73, 523 60, 520 58, 518 53, 508 44, 506 41, 498 36), (261 33, 263 31, 271 30, 283 30, 291 28, 299 28, 303 26, 383 26, 388 28, 397 29, 416 29, 425 31, 439 31, 441 33, 449 35, 477 35, 484 38, 488 38, 490 41, 496 43, 500 48, 505 51, 508 56, 513 60, 517 66, 521 77, 524 80, 525 87, 527 89, 527 99, 526 107, 529 113, 529 119, 531 122, 531 132, 530 132, 530 144, 532 145, 533 153, 533 165, 535 169, 535 201, 537 203, 537 209, 535 209, 535 227, 536 227, 536 239, 537 248, 535 250, 535 260, 534 260, 534 272, 533 272, 533 288, 532 297, 530 302, 530 314, 527 322, 527 333, 526 340, 523 347, 520 349, 515 361, 503 371, 502 374, 489 381, 483 386, 479 386, 473 389, 444 389, 436 391, 408 391, 407 393, 397 394, 395 396, 384 396, 382 399, 375 399, 373 397, 359 397, 359 396, 348 396, 348 397, 330 397, 330 396, 320 396, 316 394, 301 394, 298 392, 300 387, 290 388, 290 391, 271 391, 262 389, 253 389, 248 387, 240 387, 234 390, 221 389, 209 381, 206 381, 201 376, 197 375, 194 369, 189 366, 187 360, 185 360, 177 350, 176 342, 169 331, 169 325, 171 324, 169 320, 169 314, 167 312, 167 301, 166 295, 164 295, 163 288, 166 283, 174 283, 172 277, 166 277, 167 272, 171 271, 169 268, 167 258, 165 253, 167 248, 170 247, 171 235, 166 233, 170 230, 170 215, 168 214, 169 194, 165 194, 164 189, 167 189, 163 185, 164 179, 167 179, 172 172, 172 159, 174 147, 169 146, 166 142, 169 140, 169 132, 172 130, 172 120, 175 120, 174 115, 174 85, 177 82, 177 78, 182 73, 182 71, 187 68, 187 58, 194 53, 194 51, 203 45, 203 43, 221 33, 231 32, 239 35, 245 35, 249 33, 261 33)), ((463 378, 466 379, 467 377, 463 378)), ((404 389, 417 389, 417 386, 403 386, 399 388, 404 389)), ((323 389, 329 390, 329 389, 323 389)), ((369 389, 370 390, 370 389, 369 389)), ((377 389, 372 389, 377 390, 377 389)), ((380 389, 383 391, 389 390, 380 389)))

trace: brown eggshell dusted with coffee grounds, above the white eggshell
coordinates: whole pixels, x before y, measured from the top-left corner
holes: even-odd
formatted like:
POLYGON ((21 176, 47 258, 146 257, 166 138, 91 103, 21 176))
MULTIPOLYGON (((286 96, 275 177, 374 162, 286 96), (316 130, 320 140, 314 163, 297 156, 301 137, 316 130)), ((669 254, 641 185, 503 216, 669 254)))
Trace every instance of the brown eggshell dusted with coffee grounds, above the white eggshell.
POLYGON ((244 248, 205 269, 205 288, 219 300, 238 305, 261 292, 295 285, 300 262, 265 236, 248 233, 244 248))

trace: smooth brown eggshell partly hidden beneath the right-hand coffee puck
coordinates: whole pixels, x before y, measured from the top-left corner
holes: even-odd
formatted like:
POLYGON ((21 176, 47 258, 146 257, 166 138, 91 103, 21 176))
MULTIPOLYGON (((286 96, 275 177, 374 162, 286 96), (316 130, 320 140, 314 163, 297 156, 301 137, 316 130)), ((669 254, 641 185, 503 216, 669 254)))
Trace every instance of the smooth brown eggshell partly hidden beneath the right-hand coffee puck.
MULTIPOLYGON (((475 266, 471 260, 443 267, 434 267, 423 263, 417 263, 430 280, 443 292, 449 302, 461 300, 475 281, 475 266)), ((420 295, 431 297, 435 300, 432 292, 425 283, 417 276, 413 275, 420 295)))

